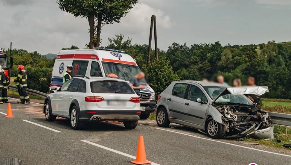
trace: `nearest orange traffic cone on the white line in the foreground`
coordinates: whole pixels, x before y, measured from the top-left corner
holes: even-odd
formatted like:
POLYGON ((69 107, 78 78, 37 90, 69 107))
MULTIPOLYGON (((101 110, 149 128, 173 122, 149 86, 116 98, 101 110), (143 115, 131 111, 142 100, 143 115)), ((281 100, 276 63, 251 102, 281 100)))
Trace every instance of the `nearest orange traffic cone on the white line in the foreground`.
POLYGON ((139 136, 138 139, 138 152, 136 154, 136 160, 131 161, 134 164, 150 164, 152 162, 146 160, 145 143, 143 142, 143 136, 139 136))

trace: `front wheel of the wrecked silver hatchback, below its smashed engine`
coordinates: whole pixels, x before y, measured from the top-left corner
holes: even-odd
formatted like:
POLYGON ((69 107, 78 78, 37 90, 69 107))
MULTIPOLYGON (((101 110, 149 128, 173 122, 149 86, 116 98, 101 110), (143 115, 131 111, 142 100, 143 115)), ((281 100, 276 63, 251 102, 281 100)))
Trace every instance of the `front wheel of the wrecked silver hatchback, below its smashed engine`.
POLYGON ((210 138, 220 139, 225 134, 225 128, 221 123, 210 119, 206 122, 205 132, 210 138))

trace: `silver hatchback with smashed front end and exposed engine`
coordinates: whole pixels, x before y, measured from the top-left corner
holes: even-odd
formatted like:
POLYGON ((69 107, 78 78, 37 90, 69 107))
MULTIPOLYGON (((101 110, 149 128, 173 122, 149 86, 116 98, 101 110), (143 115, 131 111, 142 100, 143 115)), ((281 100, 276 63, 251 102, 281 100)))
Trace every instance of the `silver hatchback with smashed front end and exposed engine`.
POLYGON ((177 123, 203 130, 211 138, 274 138, 268 112, 257 106, 266 86, 229 87, 202 81, 172 82, 158 96, 160 127, 177 123), (249 98, 252 98, 252 102, 249 98))

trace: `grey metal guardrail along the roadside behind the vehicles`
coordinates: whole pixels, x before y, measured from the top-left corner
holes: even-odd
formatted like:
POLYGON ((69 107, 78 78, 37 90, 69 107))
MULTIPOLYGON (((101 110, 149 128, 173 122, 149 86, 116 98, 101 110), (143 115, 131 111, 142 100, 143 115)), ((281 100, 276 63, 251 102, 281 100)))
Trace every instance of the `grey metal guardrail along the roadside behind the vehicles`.
MULTIPOLYGON (((17 86, 9 85, 9 89, 17 91, 17 86)), ((48 95, 48 94, 45 94, 45 93, 42 93, 42 92, 39 92, 36 90, 28 89, 28 88, 27 88, 27 93, 35 95, 35 96, 39 96, 41 98, 46 98, 48 95)), ((291 114, 276 113, 276 112, 268 112, 268 113, 271 116, 272 122, 274 124, 279 124, 279 125, 291 127, 291 114)))

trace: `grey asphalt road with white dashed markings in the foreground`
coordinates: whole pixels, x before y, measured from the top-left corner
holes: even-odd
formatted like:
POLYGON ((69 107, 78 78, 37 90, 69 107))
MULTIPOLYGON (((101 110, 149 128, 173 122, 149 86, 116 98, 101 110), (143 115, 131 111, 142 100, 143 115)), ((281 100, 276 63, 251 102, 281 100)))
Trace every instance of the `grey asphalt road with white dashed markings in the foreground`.
POLYGON ((41 104, 10 102, 14 118, 5 118, 7 104, 0 105, 0 165, 5 164, 5 158, 21 158, 24 165, 129 165, 136 156, 139 135, 144 137, 147 160, 153 165, 291 164, 290 152, 280 154, 285 151, 216 141, 184 127, 142 124, 126 130, 123 124, 101 122, 88 123, 84 130, 72 130, 67 119, 47 122, 41 104))

